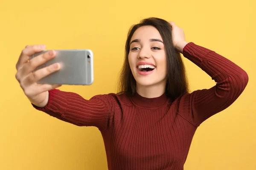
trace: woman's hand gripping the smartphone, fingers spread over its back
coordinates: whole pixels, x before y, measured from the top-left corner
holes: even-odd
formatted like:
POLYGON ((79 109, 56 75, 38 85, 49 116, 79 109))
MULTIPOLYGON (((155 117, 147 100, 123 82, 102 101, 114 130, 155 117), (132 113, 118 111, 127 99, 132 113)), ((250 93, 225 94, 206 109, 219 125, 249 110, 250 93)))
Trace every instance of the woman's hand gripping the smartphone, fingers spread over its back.
POLYGON ((20 83, 20 87, 23 89, 23 92, 30 102, 38 107, 47 105, 49 90, 61 86, 37 83, 38 80, 60 69, 60 65, 55 63, 33 72, 39 65, 44 64, 56 55, 55 51, 48 51, 29 60, 32 54, 44 51, 44 49, 44 45, 27 45, 26 48, 22 50, 16 64, 17 73, 15 77, 20 83))

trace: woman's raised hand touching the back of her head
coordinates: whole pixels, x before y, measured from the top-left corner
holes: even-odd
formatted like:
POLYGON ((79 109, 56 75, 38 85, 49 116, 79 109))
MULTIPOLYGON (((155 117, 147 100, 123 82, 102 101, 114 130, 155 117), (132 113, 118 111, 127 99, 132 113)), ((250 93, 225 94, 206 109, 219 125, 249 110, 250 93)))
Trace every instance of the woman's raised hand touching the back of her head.
POLYGON ((182 28, 176 26, 174 22, 170 21, 169 23, 172 26, 172 43, 178 52, 183 53, 183 48, 188 43, 185 40, 184 31, 182 28))

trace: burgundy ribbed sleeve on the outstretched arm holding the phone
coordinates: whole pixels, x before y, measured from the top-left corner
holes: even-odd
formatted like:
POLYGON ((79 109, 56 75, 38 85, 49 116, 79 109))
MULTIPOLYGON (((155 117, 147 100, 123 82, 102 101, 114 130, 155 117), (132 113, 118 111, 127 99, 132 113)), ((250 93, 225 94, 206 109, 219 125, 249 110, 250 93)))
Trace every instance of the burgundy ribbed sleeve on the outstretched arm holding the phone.
POLYGON ((96 95, 86 100, 76 93, 53 89, 49 91, 49 101, 44 108, 32 105, 37 110, 65 122, 105 130, 110 126, 113 102, 111 94, 96 95))

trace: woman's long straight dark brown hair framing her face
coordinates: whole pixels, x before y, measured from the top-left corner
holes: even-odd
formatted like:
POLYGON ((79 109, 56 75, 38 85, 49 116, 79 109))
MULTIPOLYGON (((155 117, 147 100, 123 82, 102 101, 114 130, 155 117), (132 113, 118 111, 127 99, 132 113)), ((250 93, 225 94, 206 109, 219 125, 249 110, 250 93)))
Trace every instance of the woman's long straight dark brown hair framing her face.
POLYGON ((119 94, 127 94, 133 96, 136 92, 136 80, 131 73, 131 68, 128 61, 130 51, 131 37, 134 32, 142 26, 154 26, 159 31, 163 43, 165 44, 166 66, 167 66, 167 83, 166 95, 175 100, 178 96, 188 93, 188 81, 186 78, 185 67, 181 59, 180 53, 175 50, 172 43, 172 28, 171 25, 163 19, 150 17, 143 19, 140 23, 131 26, 127 40, 125 43, 125 60, 120 72, 119 94))

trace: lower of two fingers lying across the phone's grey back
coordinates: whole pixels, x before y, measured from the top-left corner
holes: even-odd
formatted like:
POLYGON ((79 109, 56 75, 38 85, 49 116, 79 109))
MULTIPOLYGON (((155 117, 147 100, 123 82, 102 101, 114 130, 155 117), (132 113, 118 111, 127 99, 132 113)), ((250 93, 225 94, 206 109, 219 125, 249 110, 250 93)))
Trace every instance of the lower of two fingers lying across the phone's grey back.
POLYGON ((59 63, 54 63, 52 65, 49 65, 45 68, 41 68, 32 74, 29 74, 24 80, 23 80, 23 86, 29 86, 32 85, 33 83, 38 82, 40 79, 48 76, 49 74, 54 73, 55 71, 58 71, 60 69, 60 64, 59 63))

